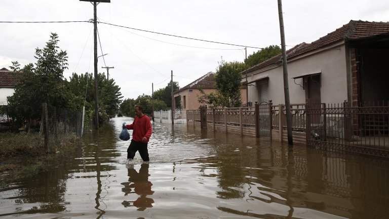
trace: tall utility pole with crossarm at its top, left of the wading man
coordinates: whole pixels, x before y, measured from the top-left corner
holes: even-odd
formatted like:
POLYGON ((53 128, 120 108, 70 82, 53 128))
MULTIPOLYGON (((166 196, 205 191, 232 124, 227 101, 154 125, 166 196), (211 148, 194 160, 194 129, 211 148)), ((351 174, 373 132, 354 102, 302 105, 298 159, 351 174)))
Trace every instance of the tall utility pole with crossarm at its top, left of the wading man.
POLYGON ((97 5, 99 3, 110 3, 110 0, 80 0, 81 2, 90 2, 93 4, 93 40, 94 40, 94 63, 95 63, 95 128, 99 129, 99 98, 97 88, 97 5))

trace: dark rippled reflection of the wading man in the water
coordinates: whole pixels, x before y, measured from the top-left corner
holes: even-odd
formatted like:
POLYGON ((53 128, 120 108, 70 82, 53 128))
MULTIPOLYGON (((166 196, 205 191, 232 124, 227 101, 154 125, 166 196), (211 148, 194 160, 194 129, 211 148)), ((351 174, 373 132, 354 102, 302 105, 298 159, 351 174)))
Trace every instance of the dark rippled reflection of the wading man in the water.
MULTIPOLYGON (((137 194, 139 197, 135 201, 123 201, 122 204, 125 207, 134 206, 137 207, 137 210, 143 211, 146 208, 151 208, 154 200, 152 198, 147 197, 147 195, 154 194, 154 191, 151 190, 152 183, 148 180, 148 168, 149 164, 142 164, 140 166, 139 172, 137 172, 133 164, 128 164, 128 182, 122 182, 121 184, 124 186, 122 191, 124 192, 124 196, 128 196, 129 194, 137 194)), ((132 199, 134 196, 131 196, 132 199)))

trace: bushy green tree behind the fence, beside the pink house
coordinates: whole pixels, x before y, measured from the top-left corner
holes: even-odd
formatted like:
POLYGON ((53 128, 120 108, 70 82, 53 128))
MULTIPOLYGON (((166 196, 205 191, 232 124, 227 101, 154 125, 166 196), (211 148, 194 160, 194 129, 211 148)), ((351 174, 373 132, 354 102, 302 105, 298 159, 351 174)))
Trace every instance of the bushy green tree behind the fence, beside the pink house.
POLYGON ((241 71, 245 69, 243 62, 225 62, 223 59, 219 62, 216 69, 216 93, 205 94, 199 96, 200 103, 206 103, 210 107, 238 107, 242 104, 241 101, 241 71))

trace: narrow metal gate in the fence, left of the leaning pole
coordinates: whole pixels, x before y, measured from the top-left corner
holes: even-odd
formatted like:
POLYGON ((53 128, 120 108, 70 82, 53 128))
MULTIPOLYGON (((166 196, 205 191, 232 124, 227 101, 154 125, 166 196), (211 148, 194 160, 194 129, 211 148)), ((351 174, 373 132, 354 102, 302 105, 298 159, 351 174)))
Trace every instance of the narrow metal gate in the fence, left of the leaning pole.
POLYGON ((256 137, 271 141, 271 100, 255 103, 256 137))

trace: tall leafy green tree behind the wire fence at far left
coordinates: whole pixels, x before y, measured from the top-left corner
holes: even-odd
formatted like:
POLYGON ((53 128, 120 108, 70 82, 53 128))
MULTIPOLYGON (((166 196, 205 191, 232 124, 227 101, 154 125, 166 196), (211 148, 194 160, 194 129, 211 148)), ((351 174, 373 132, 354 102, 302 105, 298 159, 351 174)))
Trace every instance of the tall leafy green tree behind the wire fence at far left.
POLYGON ((63 71, 67 68, 67 53, 58 47, 58 35, 51 33, 50 40, 43 49, 35 49, 36 62, 20 69, 20 64, 12 62, 11 69, 22 71, 20 83, 15 93, 8 97, 8 115, 19 122, 26 119, 40 119, 42 103, 49 106, 74 109, 73 95, 65 89, 63 71))

